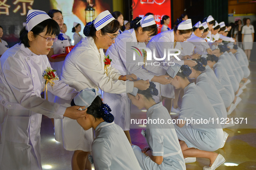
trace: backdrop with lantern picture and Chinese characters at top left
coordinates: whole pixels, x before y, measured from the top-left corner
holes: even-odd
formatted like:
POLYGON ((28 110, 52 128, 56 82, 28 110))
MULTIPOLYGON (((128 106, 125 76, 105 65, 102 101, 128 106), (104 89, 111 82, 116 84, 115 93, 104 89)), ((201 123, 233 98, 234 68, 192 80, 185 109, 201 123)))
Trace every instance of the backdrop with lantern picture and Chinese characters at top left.
MULTIPOLYGON (((105 10, 113 12, 112 0, 0 0, 0 25, 3 37, 10 47, 19 42, 19 31, 26 22, 29 9, 39 9, 48 13, 50 9, 62 11, 64 23, 68 27, 67 35, 72 39, 73 22, 82 25, 80 35, 86 22, 91 21, 105 10), (86 16, 87 15, 87 16, 86 16)), ((84 36, 84 35, 83 35, 84 36)))

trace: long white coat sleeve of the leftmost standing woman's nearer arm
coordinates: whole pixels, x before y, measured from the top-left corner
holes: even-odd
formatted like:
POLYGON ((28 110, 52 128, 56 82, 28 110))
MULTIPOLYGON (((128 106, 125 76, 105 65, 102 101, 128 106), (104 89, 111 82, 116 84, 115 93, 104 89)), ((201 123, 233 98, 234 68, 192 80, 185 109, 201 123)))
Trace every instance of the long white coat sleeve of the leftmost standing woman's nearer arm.
POLYGON ((35 88, 37 87, 34 87, 33 81, 29 77, 30 72, 26 70, 26 66, 20 60, 8 57, 3 63, 2 69, 6 82, 21 106, 33 112, 44 114, 49 118, 63 119, 66 107, 42 99, 36 94, 35 88))

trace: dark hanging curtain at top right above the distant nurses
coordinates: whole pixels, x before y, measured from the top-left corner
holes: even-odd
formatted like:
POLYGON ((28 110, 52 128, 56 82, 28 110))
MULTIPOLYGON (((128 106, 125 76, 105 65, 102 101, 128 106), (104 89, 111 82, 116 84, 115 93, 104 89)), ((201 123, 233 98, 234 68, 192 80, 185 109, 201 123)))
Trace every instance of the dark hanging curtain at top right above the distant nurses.
POLYGON ((218 23, 228 24, 228 0, 204 0, 204 18, 213 16, 218 23))

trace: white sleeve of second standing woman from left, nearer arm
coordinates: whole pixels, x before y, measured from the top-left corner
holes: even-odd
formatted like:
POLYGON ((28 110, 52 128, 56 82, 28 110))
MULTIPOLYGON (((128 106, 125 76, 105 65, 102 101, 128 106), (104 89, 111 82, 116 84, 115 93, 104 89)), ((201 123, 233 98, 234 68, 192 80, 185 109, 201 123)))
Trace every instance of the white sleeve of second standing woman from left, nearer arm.
MULTIPOLYGON (((109 73, 113 73, 114 76, 112 79, 111 76, 107 76, 104 71, 104 68, 100 65, 99 56, 97 56, 94 51, 86 50, 83 51, 79 57, 77 57, 75 66, 78 70, 83 73, 88 79, 94 82, 97 87, 107 93, 129 93, 133 91, 133 82, 125 82, 122 80, 117 80, 118 74, 117 69, 109 68, 109 73), (90 56, 90 57, 88 57, 90 56), (84 62, 86 61, 86 62, 84 62)), ((119 75, 120 76, 120 75, 119 75)))

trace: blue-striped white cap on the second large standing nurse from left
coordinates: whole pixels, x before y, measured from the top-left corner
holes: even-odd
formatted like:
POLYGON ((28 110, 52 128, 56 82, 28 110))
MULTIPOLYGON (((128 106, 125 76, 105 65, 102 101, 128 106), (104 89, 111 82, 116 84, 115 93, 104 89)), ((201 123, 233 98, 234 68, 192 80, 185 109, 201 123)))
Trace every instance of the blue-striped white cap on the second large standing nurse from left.
POLYGON ((115 18, 111 15, 111 13, 108 10, 106 10, 106 11, 100 13, 96 17, 93 24, 94 24, 94 27, 96 28, 96 30, 98 31, 101 28, 103 28, 104 26, 106 26, 108 23, 113 21, 114 19, 115 18))

